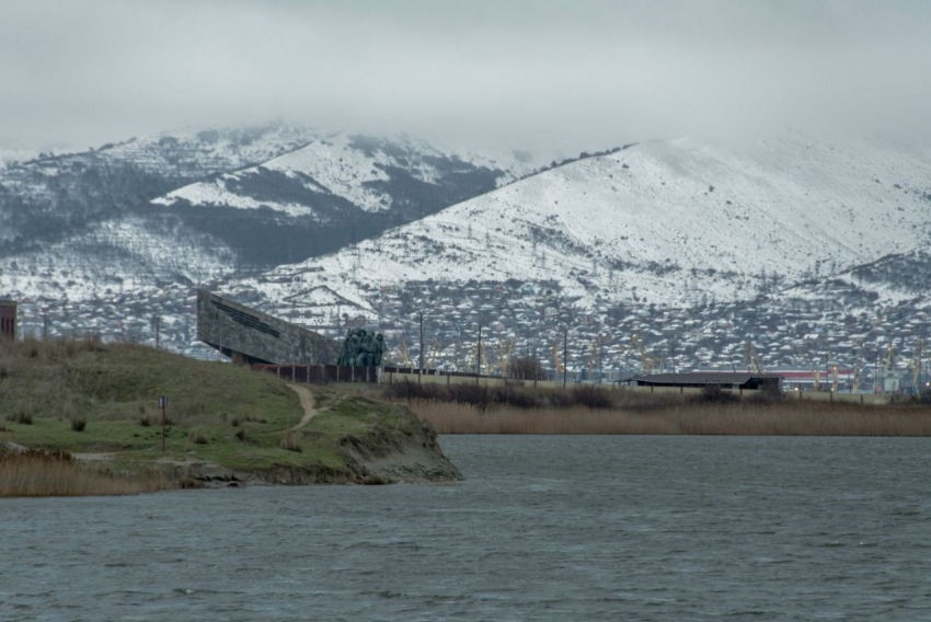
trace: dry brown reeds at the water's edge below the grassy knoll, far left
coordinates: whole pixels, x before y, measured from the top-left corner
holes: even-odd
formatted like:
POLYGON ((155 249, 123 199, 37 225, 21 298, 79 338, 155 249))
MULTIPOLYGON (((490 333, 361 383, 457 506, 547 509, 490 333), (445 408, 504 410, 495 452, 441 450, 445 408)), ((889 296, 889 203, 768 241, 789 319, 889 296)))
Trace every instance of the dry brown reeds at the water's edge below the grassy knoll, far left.
POLYGON ((191 487, 191 483, 151 473, 123 477, 82 464, 68 452, 0 453, 0 497, 137 495, 191 487))

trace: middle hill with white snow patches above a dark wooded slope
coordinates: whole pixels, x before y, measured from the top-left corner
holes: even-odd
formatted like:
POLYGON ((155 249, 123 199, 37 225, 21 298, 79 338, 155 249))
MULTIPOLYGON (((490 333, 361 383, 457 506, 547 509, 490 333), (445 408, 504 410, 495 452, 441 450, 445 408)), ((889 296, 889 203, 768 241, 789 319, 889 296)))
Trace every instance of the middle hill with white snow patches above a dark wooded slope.
POLYGON ((321 133, 279 158, 152 201, 269 267, 337 251, 530 172, 512 156, 441 149, 407 136, 321 133), (221 227, 216 223, 222 222, 221 227))

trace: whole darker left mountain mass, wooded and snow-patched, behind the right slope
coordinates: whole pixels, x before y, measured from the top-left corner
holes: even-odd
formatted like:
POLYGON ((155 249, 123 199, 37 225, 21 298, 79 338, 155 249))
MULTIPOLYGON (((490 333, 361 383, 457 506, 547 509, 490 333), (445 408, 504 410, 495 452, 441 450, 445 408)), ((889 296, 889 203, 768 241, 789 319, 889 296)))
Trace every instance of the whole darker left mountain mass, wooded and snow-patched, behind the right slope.
POLYGON ((531 165, 281 124, 44 153, 0 170, 0 296, 48 308, 56 327, 112 332, 99 311, 114 301, 179 313, 166 292, 186 299, 197 285, 340 250, 531 165))

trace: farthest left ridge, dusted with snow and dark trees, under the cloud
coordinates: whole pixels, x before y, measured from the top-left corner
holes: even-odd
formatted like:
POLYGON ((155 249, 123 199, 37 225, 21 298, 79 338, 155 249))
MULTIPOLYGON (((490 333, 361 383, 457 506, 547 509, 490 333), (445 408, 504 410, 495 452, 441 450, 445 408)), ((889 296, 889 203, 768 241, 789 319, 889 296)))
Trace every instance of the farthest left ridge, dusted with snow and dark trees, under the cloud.
POLYGON ((163 133, 0 169, 0 255, 61 240, 205 175, 263 162, 313 138, 271 125, 163 133))

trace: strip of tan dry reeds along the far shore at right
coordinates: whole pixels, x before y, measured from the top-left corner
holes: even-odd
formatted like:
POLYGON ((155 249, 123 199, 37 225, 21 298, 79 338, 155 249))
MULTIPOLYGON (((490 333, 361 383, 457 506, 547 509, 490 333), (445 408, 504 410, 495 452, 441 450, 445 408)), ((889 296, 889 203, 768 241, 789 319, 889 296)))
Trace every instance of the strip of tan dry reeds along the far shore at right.
POLYGON ((681 404, 655 410, 409 404, 439 434, 931 436, 928 407, 807 402, 681 404))

